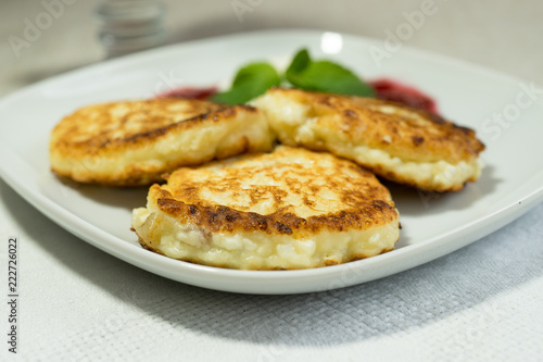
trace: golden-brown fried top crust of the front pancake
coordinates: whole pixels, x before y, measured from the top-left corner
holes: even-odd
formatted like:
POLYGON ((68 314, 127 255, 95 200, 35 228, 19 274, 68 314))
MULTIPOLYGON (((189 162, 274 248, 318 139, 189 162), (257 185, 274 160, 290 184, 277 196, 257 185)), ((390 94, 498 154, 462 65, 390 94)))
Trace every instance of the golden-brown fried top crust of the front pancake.
POLYGON ((289 147, 179 168, 167 185, 151 187, 149 202, 180 224, 210 233, 255 230, 298 238, 324 229, 368 229, 397 219, 390 192, 371 173, 331 154, 289 147))

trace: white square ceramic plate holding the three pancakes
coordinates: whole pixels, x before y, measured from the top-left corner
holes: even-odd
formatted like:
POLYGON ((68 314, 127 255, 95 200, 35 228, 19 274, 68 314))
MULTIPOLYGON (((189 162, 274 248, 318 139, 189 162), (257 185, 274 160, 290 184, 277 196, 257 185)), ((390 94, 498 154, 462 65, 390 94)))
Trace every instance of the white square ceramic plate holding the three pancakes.
POLYGON ((38 83, 0 102, 0 176, 52 221, 122 260, 178 282, 251 294, 327 290, 402 272, 490 234, 543 200, 541 88, 405 47, 378 62, 371 55, 376 49, 384 49, 382 41, 267 30, 155 49, 38 83), (172 260, 142 249, 130 232, 131 209, 146 203, 147 189, 63 184, 49 170, 50 132, 79 107, 148 98, 172 87, 228 84, 247 62, 285 63, 303 47, 367 79, 416 86, 437 99, 446 118, 476 129, 487 145, 481 178, 459 192, 391 187, 403 226, 391 252, 302 271, 236 271, 172 260))

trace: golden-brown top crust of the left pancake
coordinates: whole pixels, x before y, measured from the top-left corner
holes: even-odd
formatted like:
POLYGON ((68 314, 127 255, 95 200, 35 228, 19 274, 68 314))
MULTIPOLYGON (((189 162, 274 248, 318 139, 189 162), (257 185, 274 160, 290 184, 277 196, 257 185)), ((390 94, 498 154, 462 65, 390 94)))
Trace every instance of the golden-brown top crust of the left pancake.
POLYGON ((58 153, 97 154, 152 142, 173 127, 193 127, 189 121, 224 107, 201 100, 152 99, 84 107, 53 129, 58 153))

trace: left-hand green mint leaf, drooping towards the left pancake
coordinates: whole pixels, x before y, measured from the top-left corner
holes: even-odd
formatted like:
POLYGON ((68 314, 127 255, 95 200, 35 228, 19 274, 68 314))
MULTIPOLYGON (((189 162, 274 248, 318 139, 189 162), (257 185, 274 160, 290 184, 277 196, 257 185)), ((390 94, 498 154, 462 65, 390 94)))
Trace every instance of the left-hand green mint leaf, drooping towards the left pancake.
POLYGON ((211 99, 225 104, 240 104, 264 95, 268 88, 279 86, 281 78, 268 63, 251 63, 238 71, 229 90, 218 92, 211 99))

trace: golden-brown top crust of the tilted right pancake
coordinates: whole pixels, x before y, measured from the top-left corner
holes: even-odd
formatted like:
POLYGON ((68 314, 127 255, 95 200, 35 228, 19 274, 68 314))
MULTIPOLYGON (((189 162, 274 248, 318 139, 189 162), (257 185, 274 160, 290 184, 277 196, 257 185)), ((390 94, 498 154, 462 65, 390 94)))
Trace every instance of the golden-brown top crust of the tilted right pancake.
POLYGON ((324 127, 340 129, 348 141, 362 141, 405 161, 469 162, 484 150, 472 129, 407 105, 299 89, 270 89, 311 104, 324 127))

